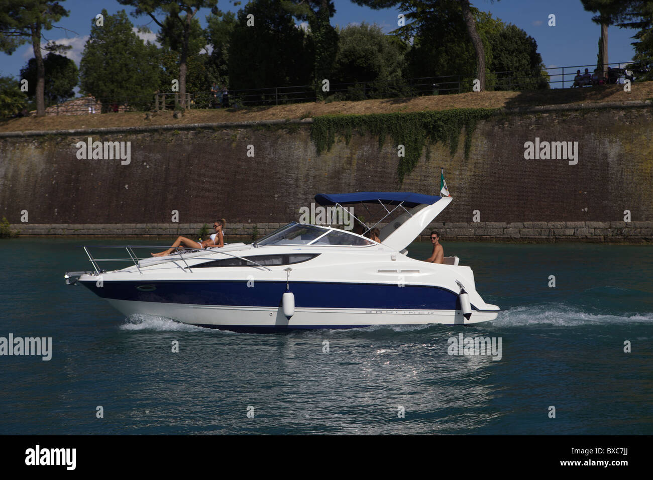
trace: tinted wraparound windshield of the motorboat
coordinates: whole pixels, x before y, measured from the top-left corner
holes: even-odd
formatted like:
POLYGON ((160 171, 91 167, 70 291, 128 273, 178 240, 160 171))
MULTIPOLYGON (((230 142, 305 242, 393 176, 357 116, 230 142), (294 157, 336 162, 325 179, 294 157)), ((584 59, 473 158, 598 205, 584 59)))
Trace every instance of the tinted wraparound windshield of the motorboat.
POLYGON ((263 245, 351 245, 368 246, 375 242, 351 233, 331 230, 315 225, 290 223, 276 232, 261 238, 256 246, 263 245))

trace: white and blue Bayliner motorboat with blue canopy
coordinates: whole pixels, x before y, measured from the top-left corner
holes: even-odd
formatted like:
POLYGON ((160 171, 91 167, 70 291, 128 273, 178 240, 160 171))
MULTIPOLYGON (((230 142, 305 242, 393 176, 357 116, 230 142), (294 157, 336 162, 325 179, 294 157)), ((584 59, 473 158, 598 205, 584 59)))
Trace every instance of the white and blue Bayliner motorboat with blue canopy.
POLYGON ((88 287, 127 316, 144 313, 244 332, 468 325, 500 312, 483 301, 471 268, 458 264, 458 257, 435 264, 407 256, 407 246, 451 197, 358 192, 315 200, 330 208, 382 206, 381 242, 342 225, 293 221, 253 244, 177 249, 167 257, 136 255, 161 246, 86 246, 93 270, 67 272, 65 280, 88 287), (120 248, 128 257, 98 259, 91 255, 97 248, 120 248), (104 270, 101 264, 108 260, 131 265, 104 270))

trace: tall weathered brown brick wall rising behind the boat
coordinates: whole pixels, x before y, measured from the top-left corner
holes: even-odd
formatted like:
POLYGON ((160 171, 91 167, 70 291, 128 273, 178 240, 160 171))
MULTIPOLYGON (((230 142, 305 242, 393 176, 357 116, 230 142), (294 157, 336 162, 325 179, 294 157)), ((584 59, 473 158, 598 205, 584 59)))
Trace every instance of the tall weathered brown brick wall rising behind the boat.
POLYGON ((454 155, 449 145, 431 146, 403 185, 390 138, 379 148, 377 138, 355 133, 349 144, 338 139, 317 155, 310 125, 117 130, 0 135, 0 216, 23 234, 174 234, 177 210, 182 225, 225 217, 232 234, 249 235, 253 224, 263 234, 262 225, 298 219, 298 208, 310 206, 315 193, 436 194, 444 167, 454 201, 434 225, 449 237, 651 238, 648 106, 499 114, 479 123, 468 159, 461 133, 454 155), (131 163, 78 159, 76 142, 88 136, 131 142, 131 163), (524 142, 535 137, 579 142, 578 164, 524 159, 524 142), (22 210, 27 224, 20 222, 22 210), (472 221, 475 210, 479 222, 472 221), (628 224, 624 210, 631 212, 628 224))

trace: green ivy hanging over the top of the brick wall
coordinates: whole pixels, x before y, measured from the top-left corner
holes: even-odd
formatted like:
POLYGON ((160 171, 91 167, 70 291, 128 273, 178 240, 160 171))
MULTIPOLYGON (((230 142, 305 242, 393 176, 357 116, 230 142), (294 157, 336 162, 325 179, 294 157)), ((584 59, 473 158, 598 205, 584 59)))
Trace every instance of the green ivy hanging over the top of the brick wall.
POLYGON ((396 146, 404 145, 405 156, 399 157, 397 175, 399 182, 417 165, 424 146, 437 142, 449 142, 451 155, 458 149, 458 137, 465 128, 465 158, 469 157, 471 135, 479 120, 490 117, 493 108, 458 108, 436 112, 409 112, 370 115, 327 115, 314 117, 311 124, 311 139, 317 153, 330 150, 336 142, 336 135, 349 144, 351 135, 357 130, 379 138, 379 148, 390 136, 396 146))

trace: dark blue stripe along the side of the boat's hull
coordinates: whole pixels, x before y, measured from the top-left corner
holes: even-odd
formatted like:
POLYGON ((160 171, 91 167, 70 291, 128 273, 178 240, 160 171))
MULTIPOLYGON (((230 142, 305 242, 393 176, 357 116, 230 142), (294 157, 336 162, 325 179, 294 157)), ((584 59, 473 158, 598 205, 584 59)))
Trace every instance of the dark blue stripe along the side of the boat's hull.
MULTIPOLYGON (((193 305, 256 306, 277 308, 285 281, 83 281, 93 293, 108 299, 193 305)), ((460 310, 458 295, 426 285, 291 282, 296 308, 401 308, 460 310)), ((472 307, 473 308, 473 307, 472 307)), ((474 310, 477 310, 474 308, 474 310)))

